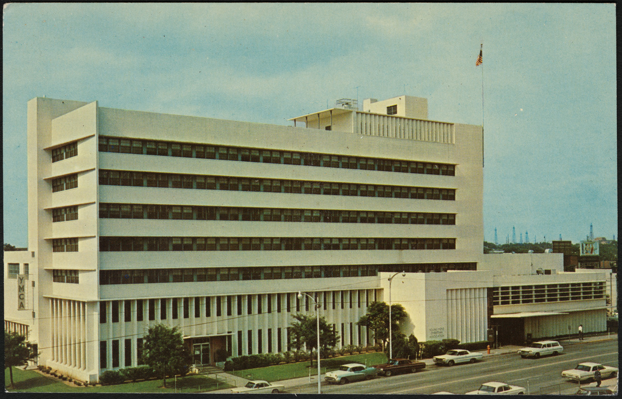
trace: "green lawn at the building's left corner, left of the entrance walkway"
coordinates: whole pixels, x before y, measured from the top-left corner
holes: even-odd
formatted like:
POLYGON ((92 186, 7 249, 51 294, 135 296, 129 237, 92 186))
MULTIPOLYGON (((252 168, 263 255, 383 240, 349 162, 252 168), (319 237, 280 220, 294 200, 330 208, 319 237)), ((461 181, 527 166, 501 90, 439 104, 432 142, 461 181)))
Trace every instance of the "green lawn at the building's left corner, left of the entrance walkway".
MULTIPOLYGON (((4 381, 6 384, 11 383, 9 379, 9 370, 4 369, 4 381)), ((32 370, 21 370, 13 368, 14 387, 9 387, 9 392, 74 392, 74 393, 91 393, 91 392, 159 392, 174 393, 175 378, 167 378, 167 388, 162 388, 162 380, 149 380, 140 382, 128 382, 118 385, 105 385, 102 387, 70 387, 65 383, 57 380, 57 378, 47 377, 32 370)), ((229 388, 231 385, 222 381, 218 383, 213 378, 204 375, 187 375, 186 377, 177 378, 177 392, 208 392, 217 389, 229 388), (200 388, 200 391, 199 391, 200 388)))

